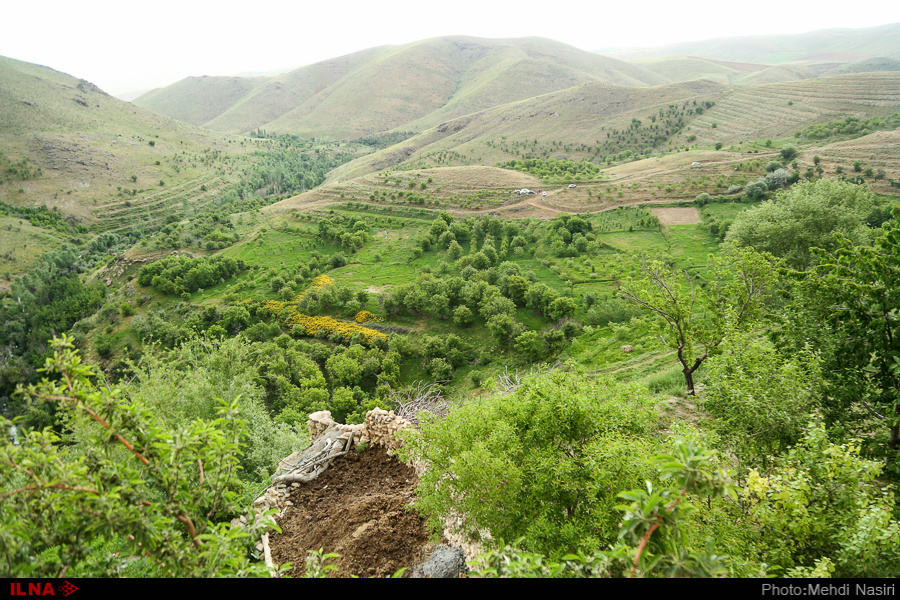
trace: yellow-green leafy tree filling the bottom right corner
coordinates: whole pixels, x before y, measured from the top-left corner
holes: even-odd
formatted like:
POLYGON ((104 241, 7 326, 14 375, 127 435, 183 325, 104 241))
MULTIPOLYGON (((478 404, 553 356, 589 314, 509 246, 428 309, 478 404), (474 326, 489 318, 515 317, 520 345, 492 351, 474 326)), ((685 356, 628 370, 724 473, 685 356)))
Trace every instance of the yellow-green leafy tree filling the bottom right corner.
POLYGON ((814 420, 775 468, 750 472, 747 508, 773 573, 796 577, 827 565, 837 577, 885 577, 900 570, 894 495, 873 485, 882 467, 859 443, 835 444, 814 420))

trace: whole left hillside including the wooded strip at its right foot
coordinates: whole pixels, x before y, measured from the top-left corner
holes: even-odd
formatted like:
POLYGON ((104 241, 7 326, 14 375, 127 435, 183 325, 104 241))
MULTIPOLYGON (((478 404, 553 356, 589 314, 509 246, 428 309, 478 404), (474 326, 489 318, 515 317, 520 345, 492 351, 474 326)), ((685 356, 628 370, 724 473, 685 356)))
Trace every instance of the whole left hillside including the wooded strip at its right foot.
POLYGON ((271 202, 314 187, 353 151, 368 149, 224 137, 0 57, 0 220, 10 232, 0 291, 46 250, 271 202))

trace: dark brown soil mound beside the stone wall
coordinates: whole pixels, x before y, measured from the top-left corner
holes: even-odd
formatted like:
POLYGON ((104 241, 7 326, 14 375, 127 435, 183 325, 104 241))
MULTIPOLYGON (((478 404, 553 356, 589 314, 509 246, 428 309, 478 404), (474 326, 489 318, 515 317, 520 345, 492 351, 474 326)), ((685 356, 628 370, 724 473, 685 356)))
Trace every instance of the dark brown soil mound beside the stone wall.
POLYGON ((277 519, 269 544, 275 564, 291 562, 302 577, 308 550, 341 557, 333 577, 384 577, 423 559, 429 531, 412 509, 415 471, 380 446, 351 450, 309 483, 292 486, 291 505, 277 519))

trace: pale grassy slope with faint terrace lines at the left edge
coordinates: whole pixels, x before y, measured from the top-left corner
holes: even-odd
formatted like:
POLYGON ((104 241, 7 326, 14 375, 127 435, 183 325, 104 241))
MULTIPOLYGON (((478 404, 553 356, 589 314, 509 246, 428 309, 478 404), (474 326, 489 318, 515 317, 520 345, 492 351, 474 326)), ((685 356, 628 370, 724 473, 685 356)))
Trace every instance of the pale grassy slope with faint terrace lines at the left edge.
MULTIPOLYGON (((118 100, 87 81, 0 57, 0 153, 40 170, 27 179, 0 174, 0 201, 8 204, 57 207, 95 231, 115 231, 212 201, 238 176, 250 149, 118 100)), ((0 223, 0 271, 11 277, 71 241, 18 223, 0 223)), ((0 282, 7 286, 6 279, 0 282)))

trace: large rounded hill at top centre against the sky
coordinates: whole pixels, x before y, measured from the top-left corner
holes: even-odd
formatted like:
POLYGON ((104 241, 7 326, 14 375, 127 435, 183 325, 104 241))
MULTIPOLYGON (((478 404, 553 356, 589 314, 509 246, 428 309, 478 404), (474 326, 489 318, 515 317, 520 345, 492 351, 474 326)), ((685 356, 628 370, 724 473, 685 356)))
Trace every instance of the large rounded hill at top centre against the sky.
MULTIPOLYGON (((460 115, 582 83, 648 86, 665 79, 615 59, 542 38, 433 38, 371 48, 273 77, 203 123, 229 133, 258 128, 353 139, 421 130, 460 115)), ((202 81, 135 100, 176 117, 202 81), (163 102, 165 101, 165 102, 163 102), (151 106, 152 102, 152 106, 151 106), (168 103, 168 105, 165 105, 168 103)))

